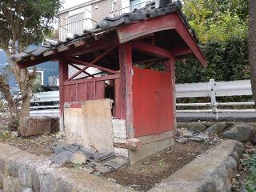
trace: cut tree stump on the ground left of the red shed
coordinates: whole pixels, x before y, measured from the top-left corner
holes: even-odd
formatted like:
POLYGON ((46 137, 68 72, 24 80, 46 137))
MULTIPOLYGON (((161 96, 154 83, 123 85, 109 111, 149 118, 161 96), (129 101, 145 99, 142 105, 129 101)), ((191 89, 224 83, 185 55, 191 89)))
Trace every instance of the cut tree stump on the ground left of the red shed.
POLYGON ((25 117, 22 118, 22 124, 18 129, 23 137, 41 135, 45 133, 56 133, 59 130, 58 118, 52 117, 25 117))

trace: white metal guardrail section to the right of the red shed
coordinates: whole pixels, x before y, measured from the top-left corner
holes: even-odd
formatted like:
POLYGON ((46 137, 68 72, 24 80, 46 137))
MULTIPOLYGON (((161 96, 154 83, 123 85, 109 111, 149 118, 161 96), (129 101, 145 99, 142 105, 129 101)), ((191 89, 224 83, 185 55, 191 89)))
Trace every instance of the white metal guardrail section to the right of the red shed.
POLYGON ((255 110, 220 110, 218 106, 254 106, 254 102, 217 102, 216 97, 252 95, 250 80, 186 83, 176 85, 176 98, 210 97, 207 103, 177 103, 176 106, 210 106, 210 110, 177 110, 177 113, 214 113, 218 119, 218 113, 222 112, 253 112, 255 110))

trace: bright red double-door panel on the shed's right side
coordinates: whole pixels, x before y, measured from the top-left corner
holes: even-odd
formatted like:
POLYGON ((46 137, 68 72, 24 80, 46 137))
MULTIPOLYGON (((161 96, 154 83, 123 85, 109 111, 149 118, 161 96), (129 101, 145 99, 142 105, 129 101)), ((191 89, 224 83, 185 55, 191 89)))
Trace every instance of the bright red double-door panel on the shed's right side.
POLYGON ((174 129, 174 98, 170 73, 134 67, 134 137, 174 129))

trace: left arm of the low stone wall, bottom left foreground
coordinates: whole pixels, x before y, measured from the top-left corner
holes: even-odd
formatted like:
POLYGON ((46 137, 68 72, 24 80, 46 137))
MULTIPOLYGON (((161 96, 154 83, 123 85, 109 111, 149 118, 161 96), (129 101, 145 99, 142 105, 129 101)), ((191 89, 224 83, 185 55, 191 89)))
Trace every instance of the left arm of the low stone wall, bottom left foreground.
MULTIPOLYGON (((24 189, 33 189, 34 191, 79 191, 79 192, 105 192, 120 191, 132 192, 134 190, 125 186, 118 185, 114 182, 97 178, 82 170, 68 168, 57 168, 51 165, 47 158, 29 154, 25 151, 18 150, 15 147, 0 143, 0 174, 3 175, 4 191, 14 191, 22 184, 24 189), (10 162, 13 162, 10 164, 10 162), (14 174, 11 177, 6 168, 14 166, 14 169, 22 174, 14 174), (24 177, 24 175, 26 177, 24 177), (23 176, 22 176, 23 175, 23 176), (31 181, 23 181, 31 178, 31 181), (11 183, 11 184, 10 184, 11 183), (15 189, 14 189, 15 188, 15 189)), ((0 188, 0 191, 2 189, 0 188)), ((22 190, 16 190, 22 191, 22 190)))

